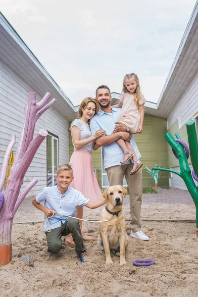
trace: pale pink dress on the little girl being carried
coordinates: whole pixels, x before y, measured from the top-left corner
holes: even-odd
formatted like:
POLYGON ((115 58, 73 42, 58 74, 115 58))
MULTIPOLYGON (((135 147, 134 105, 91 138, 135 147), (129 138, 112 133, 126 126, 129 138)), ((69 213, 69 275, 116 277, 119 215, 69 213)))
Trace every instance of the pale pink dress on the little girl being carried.
MULTIPOLYGON (((124 93, 120 98, 120 102, 122 102, 122 110, 120 112, 118 121, 129 127, 131 133, 137 133, 137 130, 140 126, 140 112, 138 105, 134 101, 133 95, 124 93)), ((141 105, 145 102, 146 99, 143 94, 141 94, 139 104, 141 105)))

